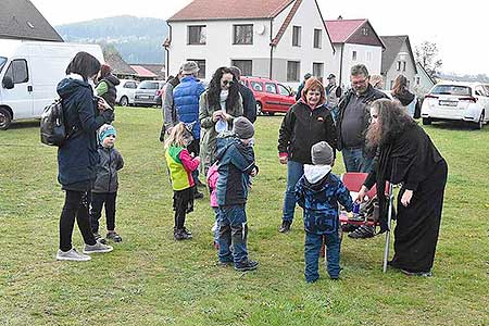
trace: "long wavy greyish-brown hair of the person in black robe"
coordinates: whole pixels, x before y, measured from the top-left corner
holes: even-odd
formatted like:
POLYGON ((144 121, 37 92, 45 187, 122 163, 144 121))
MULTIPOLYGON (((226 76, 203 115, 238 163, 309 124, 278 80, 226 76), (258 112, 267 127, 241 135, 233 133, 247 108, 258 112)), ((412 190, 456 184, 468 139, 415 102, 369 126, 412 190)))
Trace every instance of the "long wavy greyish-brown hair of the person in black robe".
POLYGON ((371 110, 376 110, 378 116, 377 123, 368 126, 365 136, 371 147, 388 143, 417 124, 397 101, 376 100, 371 110))

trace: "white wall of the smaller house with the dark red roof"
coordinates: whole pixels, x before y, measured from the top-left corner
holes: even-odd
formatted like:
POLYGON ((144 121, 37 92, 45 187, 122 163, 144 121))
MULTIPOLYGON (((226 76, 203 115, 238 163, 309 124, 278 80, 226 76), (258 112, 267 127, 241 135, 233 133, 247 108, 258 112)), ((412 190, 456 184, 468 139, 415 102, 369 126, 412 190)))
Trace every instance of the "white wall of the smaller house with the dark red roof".
MULTIPOLYGON (((341 85, 343 87, 350 87, 350 71, 355 64, 363 63, 368 70, 371 75, 379 75, 383 62, 383 48, 378 46, 364 46, 344 43, 342 50, 342 67, 341 67, 341 85), (356 59, 353 60, 353 51, 356 52, 356 59), (368 54, 369 53, 369 54, 368 54)), ((337 47, 337 60, 341 60, 341 45, 335 45, 337 47)), ((338 76, 338 75, 337 75, 338 76)), ((338 84, 340 82, 338 80, 338 84)))

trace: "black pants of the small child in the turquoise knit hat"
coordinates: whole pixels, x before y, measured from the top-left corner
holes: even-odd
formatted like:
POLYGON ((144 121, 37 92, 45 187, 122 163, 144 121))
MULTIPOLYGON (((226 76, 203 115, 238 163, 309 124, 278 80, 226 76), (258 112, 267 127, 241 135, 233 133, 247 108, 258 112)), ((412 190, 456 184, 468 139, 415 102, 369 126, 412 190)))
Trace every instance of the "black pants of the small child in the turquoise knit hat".
POLYGON ((91 192, 90 226, 93 234, 99 233, 99 220, 105 204, 106 229, 115 229, 115 199, 117 192, 91 192))

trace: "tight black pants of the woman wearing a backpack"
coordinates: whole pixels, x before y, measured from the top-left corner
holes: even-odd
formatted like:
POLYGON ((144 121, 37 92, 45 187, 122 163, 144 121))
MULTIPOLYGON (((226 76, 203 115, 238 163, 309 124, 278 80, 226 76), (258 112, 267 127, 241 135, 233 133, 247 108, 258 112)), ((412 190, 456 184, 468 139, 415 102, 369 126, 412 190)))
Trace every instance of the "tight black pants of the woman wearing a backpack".
POLYGON ((66 198, 60 218, 60 249, 62 251, 72 249, 72 234, 75 218, 85 243, 97 243, 93 234, 90 230, 90 220, 88 215, 90 197, 89 191, 66 190, 66 198))

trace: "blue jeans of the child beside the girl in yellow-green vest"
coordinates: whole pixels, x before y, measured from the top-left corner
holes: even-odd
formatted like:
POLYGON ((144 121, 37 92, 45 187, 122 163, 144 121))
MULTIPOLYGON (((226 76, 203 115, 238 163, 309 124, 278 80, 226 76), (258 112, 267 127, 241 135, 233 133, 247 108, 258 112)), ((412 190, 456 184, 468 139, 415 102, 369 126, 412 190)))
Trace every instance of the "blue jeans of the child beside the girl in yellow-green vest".
POLYGON ((239 265, 248 261, 244 204, 220 208, 220 262, 239 265), (230 250, 233 246, 233 251, 230 250))

